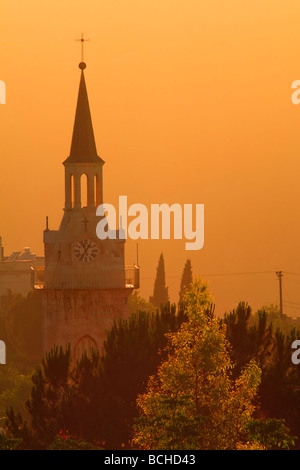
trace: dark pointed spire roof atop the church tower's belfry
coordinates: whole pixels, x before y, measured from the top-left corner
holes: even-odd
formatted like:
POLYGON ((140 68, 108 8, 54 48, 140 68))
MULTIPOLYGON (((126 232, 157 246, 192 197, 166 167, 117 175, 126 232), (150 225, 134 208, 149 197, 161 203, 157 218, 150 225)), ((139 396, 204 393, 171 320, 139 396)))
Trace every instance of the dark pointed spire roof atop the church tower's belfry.
POLYGON ((64 163, 99 163, 103 160, 97 155, 93 124, 84 78, 84 62, 79 64, 81 78, 78 92, 73 137, 69 157, 64 163))

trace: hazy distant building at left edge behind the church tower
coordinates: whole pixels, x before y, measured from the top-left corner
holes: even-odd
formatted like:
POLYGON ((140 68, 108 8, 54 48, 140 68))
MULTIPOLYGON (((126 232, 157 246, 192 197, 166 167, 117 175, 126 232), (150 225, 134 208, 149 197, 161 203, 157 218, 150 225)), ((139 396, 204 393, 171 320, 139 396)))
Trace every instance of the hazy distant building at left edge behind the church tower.
POLYGON ((10 294, 26 295, 33 289, 34 271, 44 267, 44 257, 37 256, 29 247, 4 256, 2 237, 0 237, 0 309, 7 306, 10 294))

